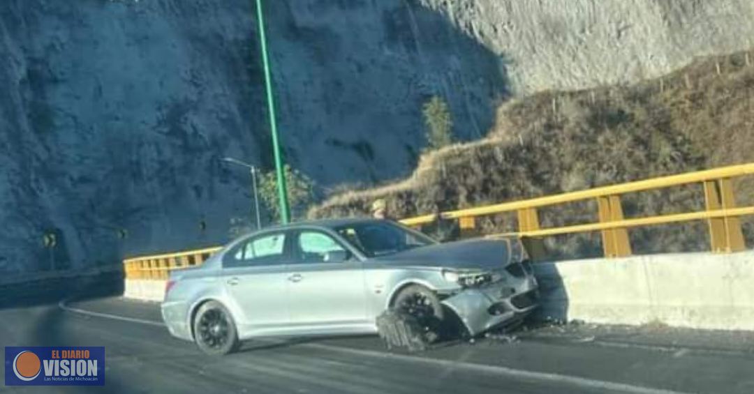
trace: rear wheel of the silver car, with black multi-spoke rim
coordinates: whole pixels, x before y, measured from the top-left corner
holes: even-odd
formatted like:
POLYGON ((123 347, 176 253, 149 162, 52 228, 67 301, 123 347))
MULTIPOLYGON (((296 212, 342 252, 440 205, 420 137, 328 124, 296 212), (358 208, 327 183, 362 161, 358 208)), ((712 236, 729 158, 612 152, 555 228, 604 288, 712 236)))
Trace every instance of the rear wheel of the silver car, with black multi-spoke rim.
POLYGON ((238 347, 238 331, 231 314, 217 301, 201 304, 194 317, 194 341, 210 356, 222 356, 238 347))

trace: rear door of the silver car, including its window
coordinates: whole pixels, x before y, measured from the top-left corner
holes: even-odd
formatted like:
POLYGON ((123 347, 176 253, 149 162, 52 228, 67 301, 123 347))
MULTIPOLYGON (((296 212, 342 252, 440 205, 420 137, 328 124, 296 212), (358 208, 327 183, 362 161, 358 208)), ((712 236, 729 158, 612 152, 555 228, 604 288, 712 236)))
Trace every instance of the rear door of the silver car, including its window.
POLYGON ((247 334, 265 334, 290 322, 286 264, 290 237, 284 231, 258 234, 238 243, 222 260, 222 276, 237 322, 247 334))

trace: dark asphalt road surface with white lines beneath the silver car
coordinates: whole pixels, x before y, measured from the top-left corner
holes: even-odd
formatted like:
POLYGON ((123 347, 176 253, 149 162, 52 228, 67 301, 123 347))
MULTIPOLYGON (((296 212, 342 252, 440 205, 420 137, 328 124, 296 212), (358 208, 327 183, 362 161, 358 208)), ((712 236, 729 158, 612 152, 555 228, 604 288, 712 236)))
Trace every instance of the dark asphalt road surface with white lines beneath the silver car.
POLYGON ((104 346, 106 386, 0 392, 754 392, 751 334, 569 325, 510 339, 418 355, 388 352, 377 337, 265 340, 216 358, 170 337, 157 304, 45 300, 0 310, 0 345, 104 346))

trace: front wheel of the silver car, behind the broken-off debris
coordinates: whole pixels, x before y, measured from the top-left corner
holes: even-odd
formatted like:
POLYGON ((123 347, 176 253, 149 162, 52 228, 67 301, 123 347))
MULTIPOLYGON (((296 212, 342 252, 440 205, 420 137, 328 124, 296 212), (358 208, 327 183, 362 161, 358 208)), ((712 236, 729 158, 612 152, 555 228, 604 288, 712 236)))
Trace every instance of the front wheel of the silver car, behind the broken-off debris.
POLYGON ((440 298, 425 286, 409 285, 395 296, 393 308, 412 316, 424 330, 424 340, 431 344, 440 340, 445 326, 445 310, 440 298))

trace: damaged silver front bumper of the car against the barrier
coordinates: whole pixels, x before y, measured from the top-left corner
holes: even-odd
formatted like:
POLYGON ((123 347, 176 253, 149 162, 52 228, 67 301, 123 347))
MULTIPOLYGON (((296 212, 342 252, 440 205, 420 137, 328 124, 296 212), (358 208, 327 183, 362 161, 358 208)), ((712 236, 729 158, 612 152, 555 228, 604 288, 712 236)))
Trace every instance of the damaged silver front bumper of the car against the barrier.
POLYGON ((520 322, 538 306, 538 299, 537 280, 528 274, 463 289, 444 298, 442 303, 458 315, 471 335, 477 335, 498 325, 520 322))

